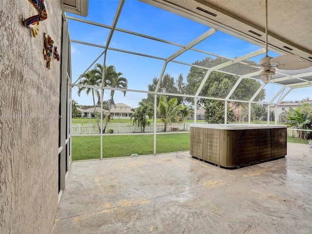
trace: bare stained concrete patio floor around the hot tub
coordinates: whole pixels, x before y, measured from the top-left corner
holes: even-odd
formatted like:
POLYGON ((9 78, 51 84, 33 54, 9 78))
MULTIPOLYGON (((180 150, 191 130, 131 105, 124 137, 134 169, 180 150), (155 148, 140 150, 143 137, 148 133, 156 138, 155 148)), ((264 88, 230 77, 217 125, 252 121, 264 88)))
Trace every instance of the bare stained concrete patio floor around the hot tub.
POLYGON ((189 152, 71 164, 53 234, 312 233, 312 152, 236 170, 189 152))

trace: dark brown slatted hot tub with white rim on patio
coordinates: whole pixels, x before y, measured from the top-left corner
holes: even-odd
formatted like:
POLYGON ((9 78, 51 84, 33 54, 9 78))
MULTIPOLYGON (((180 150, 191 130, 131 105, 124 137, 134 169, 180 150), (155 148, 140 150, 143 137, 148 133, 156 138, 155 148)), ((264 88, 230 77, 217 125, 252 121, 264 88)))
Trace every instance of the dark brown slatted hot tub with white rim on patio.
POLYGON ((235 169, 287 154, 287 126, 264 124, 191 124, 190 155, 235 169))

